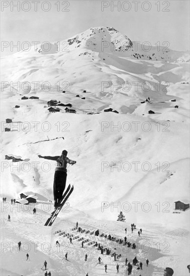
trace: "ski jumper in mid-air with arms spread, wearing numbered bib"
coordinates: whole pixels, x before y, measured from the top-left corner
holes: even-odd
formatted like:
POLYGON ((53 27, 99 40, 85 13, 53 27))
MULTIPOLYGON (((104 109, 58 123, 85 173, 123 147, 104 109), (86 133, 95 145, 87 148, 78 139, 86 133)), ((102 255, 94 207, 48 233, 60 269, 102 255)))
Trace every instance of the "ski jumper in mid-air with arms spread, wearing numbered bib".
POLYGON ((61 156, 41 156, 39 158, 44 158, 48 160, 57 161, 57 166, 54 175, 54 206, 55 208, 60 206, 62 201, 62 195, 65 190, 66 180, 67 180, 67 163, 74 165, 76 161, 72 161, 67 157, 67 151, 63 151, 61 156))

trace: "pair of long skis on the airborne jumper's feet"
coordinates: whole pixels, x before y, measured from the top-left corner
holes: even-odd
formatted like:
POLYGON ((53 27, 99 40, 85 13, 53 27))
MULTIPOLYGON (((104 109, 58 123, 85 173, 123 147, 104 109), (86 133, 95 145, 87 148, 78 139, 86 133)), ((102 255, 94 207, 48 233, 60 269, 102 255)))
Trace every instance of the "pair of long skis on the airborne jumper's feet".
POLYGON ((65 193, 62 196, 62 201, 61 204, 58 208, 56 208, 51 216, 49 217, 49 219, 46 221, 44 226, 52 226, 53 222, 55 221, 56 217, 58 216, 59 212, 61 211, 61 209, 63 208, 64 204, 66 203, 66 201, 68 200, 69 196, 71 195, 71 193, 73 192, 74 187, 69 184, 69 186, 67 187, 67 190, 65 191, 65 193))

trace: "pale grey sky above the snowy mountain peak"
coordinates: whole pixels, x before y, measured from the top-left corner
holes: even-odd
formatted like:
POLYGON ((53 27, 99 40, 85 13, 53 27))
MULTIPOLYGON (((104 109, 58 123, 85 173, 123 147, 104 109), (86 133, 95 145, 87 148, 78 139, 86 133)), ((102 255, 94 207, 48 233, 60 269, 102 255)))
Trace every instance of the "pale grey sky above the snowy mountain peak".
POLYGON ((62 41, 99 26, 114 27, 131 41, 166 41, 170 49, 188 50, 189 1, 2 0, 1 55, 17 52, 11 45, 18 42, 62 41))

